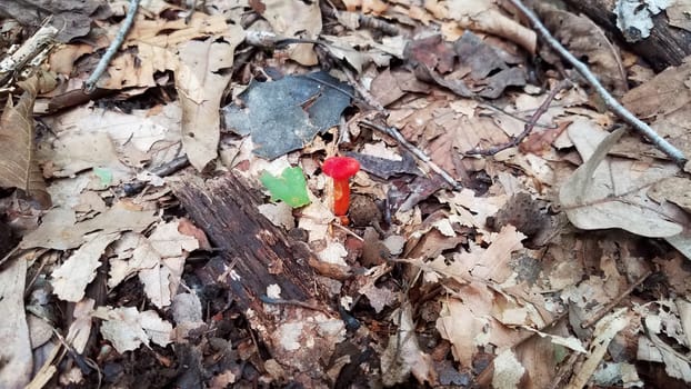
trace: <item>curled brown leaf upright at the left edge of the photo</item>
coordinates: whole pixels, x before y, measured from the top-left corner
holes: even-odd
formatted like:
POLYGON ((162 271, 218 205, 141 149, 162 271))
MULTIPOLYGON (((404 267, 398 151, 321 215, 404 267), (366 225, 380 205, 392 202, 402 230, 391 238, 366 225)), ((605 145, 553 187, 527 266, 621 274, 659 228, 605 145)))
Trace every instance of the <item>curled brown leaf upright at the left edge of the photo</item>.
POLYGON ((8 98, 0 117, 0 187, 20 189, 48 209, 52 202, 34 157, 31 117, 39 79, 34 76, 19 86, 24 90, 19 102, 14 106, 8 98))

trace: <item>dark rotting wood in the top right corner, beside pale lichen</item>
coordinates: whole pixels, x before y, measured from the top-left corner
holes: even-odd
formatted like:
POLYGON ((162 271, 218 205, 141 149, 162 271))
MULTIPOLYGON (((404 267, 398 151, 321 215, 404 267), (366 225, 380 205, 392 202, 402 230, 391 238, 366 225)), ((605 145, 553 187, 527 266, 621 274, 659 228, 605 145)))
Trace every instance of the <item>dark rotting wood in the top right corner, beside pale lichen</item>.
MULTIPOLYGON (((612 32, 621 42, 625 42, 617 27, 617 14, 612 11, 614 0, 564 0, 564 2, 612 32)), ((670 26, 665 12, 654 16, 652 21, 654 27, 650 30, 650 37, 625 46, 641 56, 658 72, 670 66, 680 66, 684 57, 691 56, 689 44, 691 32, 670 26)))

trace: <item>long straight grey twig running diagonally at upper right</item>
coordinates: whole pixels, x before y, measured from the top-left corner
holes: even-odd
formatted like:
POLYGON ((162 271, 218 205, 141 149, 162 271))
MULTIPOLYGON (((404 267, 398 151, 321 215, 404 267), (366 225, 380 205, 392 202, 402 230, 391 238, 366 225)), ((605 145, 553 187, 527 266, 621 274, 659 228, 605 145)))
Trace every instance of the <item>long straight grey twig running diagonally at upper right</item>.
POLYGON ((515 7, 530 22, 532 27, 538 31, 540 37, 549 44, 554 51, 557 51, 563 59, 570 62, 573 68, 588 81, 588 83, 600 94, 607 107, 614 112, 621 120, 629 123, 637 131, 641 132, 648 139, 655 144, 662 152, 668 154, 675 163, 683 166, 687 161, 687 157, 668 142, 664 138, 660 137, 650 126, 637 118, 628 109, 625 109, 610 92, 600 83, 595 74, 593 74, 585 63, 579 61, 569 50, 567 50, 561 43, 552 37, 550 31, 542 24, 540 19, 520 0, 509 0, 513 7, 515 7))

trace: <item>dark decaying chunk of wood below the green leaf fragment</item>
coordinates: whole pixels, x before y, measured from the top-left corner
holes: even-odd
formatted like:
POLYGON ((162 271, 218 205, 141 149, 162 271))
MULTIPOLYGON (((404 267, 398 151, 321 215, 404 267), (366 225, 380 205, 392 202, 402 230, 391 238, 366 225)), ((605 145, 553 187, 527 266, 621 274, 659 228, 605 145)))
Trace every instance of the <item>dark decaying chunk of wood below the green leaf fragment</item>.
POLYGON ((207 182, 183 177, 172 189, 220 252, 198 272, 202 282, 230 290, 284 378, 323 385, 322 363, 344 325, 308 265, 317 260, 313 253, 259 213, 260 198, 232 172, 207 182), (280 288, 280 298, 267 297, 269 286, 280 288))

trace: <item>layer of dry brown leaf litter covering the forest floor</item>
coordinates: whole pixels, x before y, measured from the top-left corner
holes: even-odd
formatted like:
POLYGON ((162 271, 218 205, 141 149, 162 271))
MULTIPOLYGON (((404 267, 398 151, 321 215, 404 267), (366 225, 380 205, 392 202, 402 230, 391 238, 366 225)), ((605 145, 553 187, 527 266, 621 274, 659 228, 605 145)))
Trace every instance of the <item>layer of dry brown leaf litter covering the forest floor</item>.
MULTIPOLYGON (((612 131, 575 83, 510 144, 560 77, 511 9, 148 1, 102 94, 80 100, 120 6, 86 7, 93 39, 34 66, 53 90, 39 76, 3 86, 17 92, 1 94, 2 387, 691 382, 689 179, 612 131), (533 53, 549 63, 541 79, 533 53), (348 220, 321 170, 337 154, 363 170, 348 220), (180 159, 191 167, 168 168, 180 159), (186 218, 171 186, 230 172, 274 226, 259 232, 267 247, 284 236, 318 275, 314 296, 272 283, 240 309, 230 280, 251 256, 204 276, 227 246, 186 218)), ((537 11, 688 154, 688 62, 641 81, 592 21, 537 11)), ((291 269, 274 261, 269 273, 291 269)))

